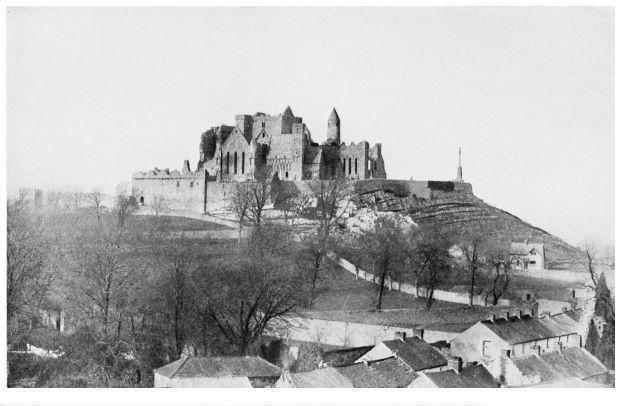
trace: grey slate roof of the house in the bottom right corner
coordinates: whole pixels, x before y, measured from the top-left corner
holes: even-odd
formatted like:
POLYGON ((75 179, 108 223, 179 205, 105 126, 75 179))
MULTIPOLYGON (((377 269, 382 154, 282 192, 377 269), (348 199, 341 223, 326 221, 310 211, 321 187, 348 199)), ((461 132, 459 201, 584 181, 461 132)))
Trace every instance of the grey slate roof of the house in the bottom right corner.
POLYGON ((540 356, 512 358, 512 363, 522 375, 540 376, 541 383, 585 379, 607 372, 607 368, 581 347, 570 347, 540 356))

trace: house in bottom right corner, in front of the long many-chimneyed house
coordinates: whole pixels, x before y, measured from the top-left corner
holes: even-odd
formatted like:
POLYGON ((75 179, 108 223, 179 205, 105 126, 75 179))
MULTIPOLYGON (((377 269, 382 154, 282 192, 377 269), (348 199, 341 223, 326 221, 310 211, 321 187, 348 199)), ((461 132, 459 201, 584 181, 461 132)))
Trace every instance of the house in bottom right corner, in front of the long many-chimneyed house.
POLYGON ((581 347, 541 352, 525 357, 513 357, 510 350, 506 350, 486 368, 491 375, 509 387, 538 385, 574 387, 575 380, 593 384, 605 384, 609 381, 607 368, 581 347))

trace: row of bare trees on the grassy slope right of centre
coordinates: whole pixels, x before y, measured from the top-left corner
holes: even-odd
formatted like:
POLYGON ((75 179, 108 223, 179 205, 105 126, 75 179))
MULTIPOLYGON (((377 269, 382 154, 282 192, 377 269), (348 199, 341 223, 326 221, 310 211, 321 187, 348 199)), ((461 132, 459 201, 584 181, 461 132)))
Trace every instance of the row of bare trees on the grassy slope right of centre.
POLYGON ((413 283, 428 309, 437 287, 458 284, 469 286, 470 305, 479 294, 497 305, 510 287, 510 252, 487 235, 480 226, 456 232, 437 223, 416 227, 399 217, 383 216, 348 241, 344 256, 377 276, 377 309, 388 279, 413 283))

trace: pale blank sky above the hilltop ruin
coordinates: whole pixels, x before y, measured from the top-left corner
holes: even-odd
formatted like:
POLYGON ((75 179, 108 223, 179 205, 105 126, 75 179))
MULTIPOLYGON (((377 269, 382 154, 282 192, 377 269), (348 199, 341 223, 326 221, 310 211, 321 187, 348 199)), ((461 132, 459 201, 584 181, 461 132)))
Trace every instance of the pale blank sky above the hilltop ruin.
POLYGON ((291 106, 382 143, 389 178, 463 175, 572 244, 614 242, 612 8, 9 8, 7 192, 112 192, 200 134, 291 106))

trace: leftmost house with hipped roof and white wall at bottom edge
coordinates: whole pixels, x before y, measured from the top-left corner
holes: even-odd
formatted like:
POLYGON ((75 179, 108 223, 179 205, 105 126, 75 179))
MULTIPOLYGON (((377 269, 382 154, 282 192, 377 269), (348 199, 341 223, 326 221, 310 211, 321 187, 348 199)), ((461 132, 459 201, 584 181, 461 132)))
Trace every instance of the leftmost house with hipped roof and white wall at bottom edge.
POLYGON ((156 388, 264 388, 280 369, 260 357, 187 357, 154 371, 156 388))

